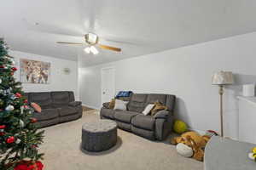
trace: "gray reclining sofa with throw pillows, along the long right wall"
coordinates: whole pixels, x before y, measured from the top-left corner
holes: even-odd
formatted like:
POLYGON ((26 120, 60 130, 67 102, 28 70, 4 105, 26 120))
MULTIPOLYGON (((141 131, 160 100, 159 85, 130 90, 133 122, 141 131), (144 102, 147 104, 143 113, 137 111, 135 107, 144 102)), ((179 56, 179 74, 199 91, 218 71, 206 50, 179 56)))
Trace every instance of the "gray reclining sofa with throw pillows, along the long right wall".
POLYGON ((175 95, 169 94, 131 94, 127 111, 114 111, 103 104, 101 118, 117 122, 118 127, 147 139, 164 140, 172 131, 175 95), (148 104, 159 101, 166 105, 167 111, 159 111, 154 116, 144 116, 148 104))

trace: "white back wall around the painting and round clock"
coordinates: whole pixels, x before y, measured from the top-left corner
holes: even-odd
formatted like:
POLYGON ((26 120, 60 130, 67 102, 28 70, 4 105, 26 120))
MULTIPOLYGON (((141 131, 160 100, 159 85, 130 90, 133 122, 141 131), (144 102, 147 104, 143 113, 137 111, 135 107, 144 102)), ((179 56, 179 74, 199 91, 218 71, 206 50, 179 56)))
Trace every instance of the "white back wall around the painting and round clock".
POLYGON ((50 68, 50 83, 49 84, 33 84, 23 83, 22 87, 25 92, 49 92, 49 91, 73 91, 76 99, 78 98, 78 64, 76 61, 66 59, 56 59, 49 56, 38 54, 27 54, 19 51, 10 51, 9 55, 15 57, 15 65, 18 71, 15 77, 20 81, 20 59, 34 59, 39 61, 49 62, 50 68), (70 68, 69 75, 64 74, 63 68, 70 68))

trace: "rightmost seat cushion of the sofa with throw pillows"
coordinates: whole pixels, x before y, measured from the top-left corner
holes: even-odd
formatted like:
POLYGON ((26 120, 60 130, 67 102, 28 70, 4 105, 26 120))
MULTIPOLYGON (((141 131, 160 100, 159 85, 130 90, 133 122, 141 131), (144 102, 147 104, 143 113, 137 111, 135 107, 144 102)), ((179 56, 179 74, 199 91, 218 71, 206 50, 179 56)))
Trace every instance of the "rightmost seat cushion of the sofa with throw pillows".
POLYGON ((154 122, 153 116, 144 116, 143 114, 137 115, 131 120, 133 126, 147 130, 154 130, 154 122))

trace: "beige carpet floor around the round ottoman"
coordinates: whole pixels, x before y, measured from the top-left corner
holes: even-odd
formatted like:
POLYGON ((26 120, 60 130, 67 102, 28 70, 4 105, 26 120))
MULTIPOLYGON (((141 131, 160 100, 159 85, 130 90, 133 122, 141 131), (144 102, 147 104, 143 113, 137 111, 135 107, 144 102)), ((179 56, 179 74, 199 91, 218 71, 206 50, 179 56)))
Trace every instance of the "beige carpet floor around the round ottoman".
POLYGON ((168 142, 154 142, 118 131, 118 144, 101 153, 80 150, 84 122, 99 119, 97 111, 86 111, 82 119, 45 129, 44 170, 202 170, 203 163, 177 155, 168 142))

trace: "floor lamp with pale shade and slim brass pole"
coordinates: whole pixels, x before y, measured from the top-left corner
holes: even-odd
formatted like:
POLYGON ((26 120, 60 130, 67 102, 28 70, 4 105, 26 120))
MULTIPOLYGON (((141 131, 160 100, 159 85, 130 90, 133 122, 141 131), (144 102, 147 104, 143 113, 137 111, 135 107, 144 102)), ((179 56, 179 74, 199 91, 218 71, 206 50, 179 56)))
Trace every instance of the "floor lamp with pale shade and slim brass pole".
POLYGON ((221 130, 221 137, 224 136, 224 129, 223 129, 223 94, 224 94, 224 86, 230 85, 234 83, 234 77, 232 72, 230 71, 218 71, 213 74, 212 76, 212 84, 218 85, 219 90, 219 98, 220 98, 220 130, 221 130))

